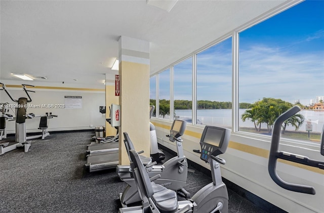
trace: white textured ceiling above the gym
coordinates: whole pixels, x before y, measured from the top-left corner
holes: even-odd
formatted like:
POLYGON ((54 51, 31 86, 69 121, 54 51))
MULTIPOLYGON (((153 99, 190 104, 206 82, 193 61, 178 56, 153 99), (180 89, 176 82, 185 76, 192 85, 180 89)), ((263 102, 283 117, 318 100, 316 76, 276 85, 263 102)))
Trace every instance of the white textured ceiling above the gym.
POLYGON ((286 1, 1 1, 1 80, 101 84, 120 35, 150 42, 155 73, 286 1))

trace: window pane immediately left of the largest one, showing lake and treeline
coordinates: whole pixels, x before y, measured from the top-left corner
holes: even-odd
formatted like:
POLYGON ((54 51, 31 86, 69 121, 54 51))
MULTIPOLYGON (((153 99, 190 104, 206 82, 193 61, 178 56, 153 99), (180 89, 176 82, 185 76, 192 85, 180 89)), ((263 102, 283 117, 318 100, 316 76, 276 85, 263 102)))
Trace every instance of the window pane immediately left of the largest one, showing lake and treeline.
POLYGON ((197 54, 197 124, 232 127, 231 38, 197 54))

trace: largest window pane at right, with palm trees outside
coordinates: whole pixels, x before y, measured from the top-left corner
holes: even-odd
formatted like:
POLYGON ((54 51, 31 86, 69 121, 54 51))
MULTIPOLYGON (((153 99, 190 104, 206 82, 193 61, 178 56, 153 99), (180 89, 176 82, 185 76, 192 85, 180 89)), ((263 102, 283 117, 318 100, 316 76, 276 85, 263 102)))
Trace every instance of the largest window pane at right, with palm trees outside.
POLYGON ((314 106, 324 95, 322 8, 323 1, 305 1, 239 33, 239 131, 271 135, 276 117, 297 104, 302 110, 283 137, 319 139, 324 114, 314 106))

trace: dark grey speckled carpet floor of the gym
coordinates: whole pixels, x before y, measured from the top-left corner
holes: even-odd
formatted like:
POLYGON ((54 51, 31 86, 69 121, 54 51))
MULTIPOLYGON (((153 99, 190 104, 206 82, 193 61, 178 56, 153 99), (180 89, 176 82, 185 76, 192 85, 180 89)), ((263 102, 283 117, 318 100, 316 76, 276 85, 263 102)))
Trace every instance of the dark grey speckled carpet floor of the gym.
MULTIPOLYGON (((16 149, 1 155, 0 212, 117 212, 118 194, 126 184, 115 169, 86 172, 86 147, 92 136, 92 132, 51 134, 33 140, 27 153, 16 149)), ((186 190, 193 195, 210 182, 210 176, 189 172, 186 190)), ((267 212, 228 192, 229 212, 267 212)))

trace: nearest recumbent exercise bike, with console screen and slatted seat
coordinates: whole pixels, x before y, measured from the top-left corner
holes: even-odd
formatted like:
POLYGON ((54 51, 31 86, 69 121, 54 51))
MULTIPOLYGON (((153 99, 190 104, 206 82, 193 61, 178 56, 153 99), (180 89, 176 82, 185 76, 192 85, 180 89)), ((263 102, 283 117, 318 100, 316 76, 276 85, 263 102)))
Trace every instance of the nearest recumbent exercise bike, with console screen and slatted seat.
MULTIPOLYGON (((178 133, 172 132, 171 137, 178 133)), ((171 138, 170 137, 170 138, 171 138)), ((205 126, 200 139, 200 159, 209 163, 213 182, 200 189, 191 200, 178 201, 176 192, 158 184, 151 183, 159 178, 156 175, 149 178, 148 173, 140 161, 135 150, 130 150, 131 166, 137 188, 140 191, 142 205, 119 208, 119 212, 222 212, 228 211, 228 193, 222 182, 220 165, 225 160, 218 157, 226 151, 230 137, 230 130, 216 126, 205 126)))

